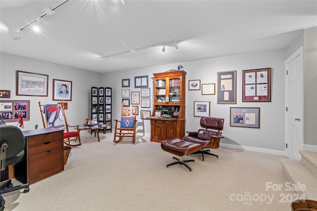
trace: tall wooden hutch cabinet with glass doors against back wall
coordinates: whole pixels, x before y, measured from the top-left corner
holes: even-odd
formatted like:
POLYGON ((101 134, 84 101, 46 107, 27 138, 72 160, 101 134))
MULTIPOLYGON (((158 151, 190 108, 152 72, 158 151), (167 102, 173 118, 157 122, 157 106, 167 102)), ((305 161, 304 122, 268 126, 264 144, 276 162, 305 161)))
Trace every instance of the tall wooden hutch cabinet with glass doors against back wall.
POLYGON ((185 135, 185 71, 154 73, 151 141, 185 135))

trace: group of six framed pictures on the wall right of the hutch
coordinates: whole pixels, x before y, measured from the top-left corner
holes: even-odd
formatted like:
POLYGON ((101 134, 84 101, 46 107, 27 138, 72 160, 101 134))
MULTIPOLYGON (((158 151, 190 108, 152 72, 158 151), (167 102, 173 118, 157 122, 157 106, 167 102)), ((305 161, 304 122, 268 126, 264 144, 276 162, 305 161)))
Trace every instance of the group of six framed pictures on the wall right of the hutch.
MULTIPOLYGON (((270 102, 270 68, 242 71, 242 102, 270 102)), ((190 80, 189 90, 215 94, 215 84, 190 80)), ((236 71, 217 73, 217 103, 236 104, 236 71)), ((194 117, 210 116, 210 101, 194 101, 194 117)), ((260 128, 260 108, 230 107, 230 127, 260 128)))

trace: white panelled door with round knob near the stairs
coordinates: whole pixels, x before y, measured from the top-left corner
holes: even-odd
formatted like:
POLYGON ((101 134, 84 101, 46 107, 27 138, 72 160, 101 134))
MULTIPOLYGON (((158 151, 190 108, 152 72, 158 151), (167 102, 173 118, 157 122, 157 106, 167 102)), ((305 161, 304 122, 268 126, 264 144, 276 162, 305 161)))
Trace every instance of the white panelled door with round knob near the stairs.
POLYGON ((298 151, 303 146, 303 47, 285 61, 285 66, 285 153, 289 159, 301 160, 298 151))

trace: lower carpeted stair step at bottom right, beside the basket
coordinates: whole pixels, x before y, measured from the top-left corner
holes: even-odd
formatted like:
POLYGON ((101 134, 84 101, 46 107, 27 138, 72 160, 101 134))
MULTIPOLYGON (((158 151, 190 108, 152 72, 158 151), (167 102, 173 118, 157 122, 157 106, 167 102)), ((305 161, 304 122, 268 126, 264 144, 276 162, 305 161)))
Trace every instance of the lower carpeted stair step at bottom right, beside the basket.
MULTIPOLYGON (((317 176, 307 169, 301 161, 281 159, 282 171, 292 184, 298 182, 306 186, 305 190, 295 191, 299 196, 305 194, 306 199, 317 200, 317 176)), ((291 192, 290 192, 291 193, 291 192)), ((291 193, 292 194, 292 193, 291 193)))

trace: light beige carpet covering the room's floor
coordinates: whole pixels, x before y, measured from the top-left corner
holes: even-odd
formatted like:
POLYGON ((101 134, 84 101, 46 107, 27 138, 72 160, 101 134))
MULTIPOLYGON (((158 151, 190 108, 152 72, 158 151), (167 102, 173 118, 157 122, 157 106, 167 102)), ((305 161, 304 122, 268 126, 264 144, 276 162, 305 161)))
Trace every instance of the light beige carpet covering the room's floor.
MULTIPOLYGON (((294 194, 266 188, 266 182, 287 182, 279 162, 284 156, 212 150, 219 158, 201 155, 184 166, 172 154, 137 137, 135 144, 113 143, 113 133, 101 142, 81 133, 64 171, 30 185, 30 192, 4 194, 10 211, 290 211, 294 194), (251 196, 251 199, 248 198, 251 196), (290 197, 288 197, 290 198, 290 197)), ((127 138, 128 140, 128 138, 127 138)), ((126 142, 126 141, 125 141, 126 142)))

